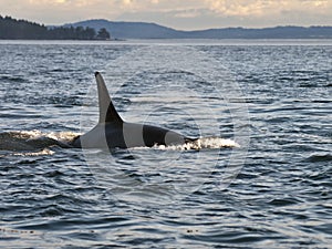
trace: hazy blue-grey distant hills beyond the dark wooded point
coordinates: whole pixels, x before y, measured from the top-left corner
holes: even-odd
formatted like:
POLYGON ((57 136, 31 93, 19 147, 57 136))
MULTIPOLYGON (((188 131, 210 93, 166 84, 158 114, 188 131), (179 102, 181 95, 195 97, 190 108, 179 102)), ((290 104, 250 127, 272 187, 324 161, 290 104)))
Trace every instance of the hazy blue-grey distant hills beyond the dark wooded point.
POLYGON ((180 31, 148 22, 114 22, 104 19, 64 27, 105 28, 115 39, 332 39, 332 27, 226 28, 180 31))

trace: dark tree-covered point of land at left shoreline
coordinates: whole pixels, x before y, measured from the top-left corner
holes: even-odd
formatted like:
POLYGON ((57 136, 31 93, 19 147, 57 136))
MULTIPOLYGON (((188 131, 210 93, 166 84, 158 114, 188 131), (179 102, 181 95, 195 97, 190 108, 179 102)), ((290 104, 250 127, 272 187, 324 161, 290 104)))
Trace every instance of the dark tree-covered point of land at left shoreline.
POLYGON ((53 27, 17 20, 0 15, 0 39, 11 40, 107 40, 111 39, 106 29, 96 32, 84 27, 53 27))

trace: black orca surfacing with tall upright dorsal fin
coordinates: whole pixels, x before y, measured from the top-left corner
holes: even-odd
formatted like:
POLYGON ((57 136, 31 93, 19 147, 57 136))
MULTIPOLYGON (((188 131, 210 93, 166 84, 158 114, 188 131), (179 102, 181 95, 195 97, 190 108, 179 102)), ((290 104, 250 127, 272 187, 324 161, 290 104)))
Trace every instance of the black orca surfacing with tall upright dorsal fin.
POLYGON ((100 72, 95 72, 98 93, 100 120, 90 132, 73 139, 77 148, 129 148, 155 145, 181 145, 196 139, 152 125, 128 123, 122 120, 110 97, 100 72))

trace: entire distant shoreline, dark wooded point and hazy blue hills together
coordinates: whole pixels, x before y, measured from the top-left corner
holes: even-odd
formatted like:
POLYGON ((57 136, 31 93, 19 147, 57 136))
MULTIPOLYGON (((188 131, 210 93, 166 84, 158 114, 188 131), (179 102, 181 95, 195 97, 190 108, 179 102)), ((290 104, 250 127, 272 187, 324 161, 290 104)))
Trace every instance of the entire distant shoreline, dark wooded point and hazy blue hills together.
POLYGON ((332 27, 273 27, 261 29, 222 28, 181 31, 149 22, 87 20, 59 27, 0 15, 0 40, 325 40, 332 39, 332 27))

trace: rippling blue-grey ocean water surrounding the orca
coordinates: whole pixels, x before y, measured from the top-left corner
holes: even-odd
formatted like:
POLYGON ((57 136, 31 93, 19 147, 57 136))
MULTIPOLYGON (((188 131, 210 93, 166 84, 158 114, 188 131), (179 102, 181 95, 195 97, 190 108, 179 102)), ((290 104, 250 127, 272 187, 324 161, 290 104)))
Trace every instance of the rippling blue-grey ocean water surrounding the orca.
POLYGON ((0 43, 1 248, 331 248, 332 41, 0 43), (196 147, 68 148, 126 121, 196 147))

